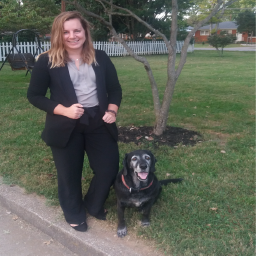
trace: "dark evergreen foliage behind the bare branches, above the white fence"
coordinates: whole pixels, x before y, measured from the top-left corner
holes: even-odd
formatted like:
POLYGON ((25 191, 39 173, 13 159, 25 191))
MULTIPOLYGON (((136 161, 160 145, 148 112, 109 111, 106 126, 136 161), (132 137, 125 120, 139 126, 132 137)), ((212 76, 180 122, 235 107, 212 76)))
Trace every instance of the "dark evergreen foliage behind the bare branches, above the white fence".
MULTIPOLYGON (((168 35, 170 33, 171 25, 171 2, 169 0, 112 0, 113 4, 130 9, 135 15, 140 17, 142 20, 154 26, 155 29, 161 31, 161 33, 168 35)), ((104 3, 99 3, 95 0, 80 0, 79 5, 89 12, 95 13, 101 16, 105 20, 110 19, 111 24, 115 27, 116 32, 119 34, 126 34, 131 41, 144 40, 147 33, 150 32, 143 24, 141 24, 137 19, 130 15, 110 15, 105 12, 104 3)), ((190 1, 181 1, 182 10, 178 15, 179 23, 179 33, 178 38, 180 40, 184 39, 184 31, 187 24, 183 20, 183 15, 185 12, 183 10, 188 9, 192 4, 190 1)), ((74 10, 73 5, 66 5, 66 10, 74 10)), ((87 19, 93 24, 92 36, 95 41, 107 40, 111 35, 109 30, 105 25, 103 25, 99 20, 87 17, 87 19)), ((154 33, 152 33, 154 34, 154 33)))

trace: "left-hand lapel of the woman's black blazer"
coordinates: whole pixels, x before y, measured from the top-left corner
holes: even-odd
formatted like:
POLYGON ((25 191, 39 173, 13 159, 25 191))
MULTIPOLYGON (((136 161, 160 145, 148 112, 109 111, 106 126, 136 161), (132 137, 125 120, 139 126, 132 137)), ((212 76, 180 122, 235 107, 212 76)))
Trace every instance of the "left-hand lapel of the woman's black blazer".
POLYGON ((67 64, 65 65, 65 67, 58 68, 58 72, 59 72, 59 77, 61 80, 60 81, 61 87, 65 91, 65 95, 66 95, 68 101, 71 104, 78 103, 78 100, 76 97, 76 92, 75 92, 73 83, 71 81, 70 75, 69 75, 67 64))

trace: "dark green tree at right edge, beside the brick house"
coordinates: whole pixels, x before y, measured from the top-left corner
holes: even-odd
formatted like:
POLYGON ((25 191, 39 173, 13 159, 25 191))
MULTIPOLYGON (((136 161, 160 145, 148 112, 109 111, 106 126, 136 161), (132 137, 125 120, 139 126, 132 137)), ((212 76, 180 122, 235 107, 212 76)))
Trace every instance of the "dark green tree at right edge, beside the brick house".
POLYGON ((250 10, 239 13, 236 18, 236 24, 238 25, 237 31, 255 35, 255 18, 255 13, 250 10))

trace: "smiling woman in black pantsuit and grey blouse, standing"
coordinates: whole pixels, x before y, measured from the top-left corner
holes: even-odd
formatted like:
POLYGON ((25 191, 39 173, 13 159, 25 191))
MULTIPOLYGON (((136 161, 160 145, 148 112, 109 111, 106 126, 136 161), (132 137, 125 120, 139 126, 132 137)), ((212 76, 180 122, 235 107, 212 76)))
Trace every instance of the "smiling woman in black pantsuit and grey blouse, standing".
POLYGON ((51 49, 39 56, 27 96, 47 112, 42 139, 52 150, 65 219, 75 230, 86 231, 85 208, 106 219, 104 203, 119 167, 115 121, 122 91, 112 62, 94 50, 89 23, 79 12, 55 18, 51 49), (94 177, 83 200, 84 152, 94 177))

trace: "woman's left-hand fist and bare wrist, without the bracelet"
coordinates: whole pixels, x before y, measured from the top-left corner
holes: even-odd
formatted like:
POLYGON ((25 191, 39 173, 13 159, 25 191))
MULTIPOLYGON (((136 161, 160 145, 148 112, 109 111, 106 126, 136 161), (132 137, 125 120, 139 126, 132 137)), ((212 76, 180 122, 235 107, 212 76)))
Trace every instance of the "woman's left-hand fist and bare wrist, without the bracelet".
POLYGON ((83 105, 80 103, 73 104, 70 107, 64 107, 63 105, 59 104, 54 109, 53 113, 55 115, 66 116, 71 119, 78 119, 83 115, 84 109, 83 105))

